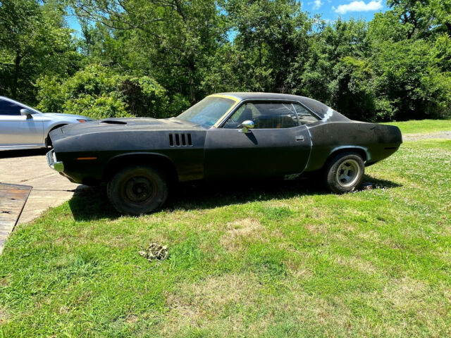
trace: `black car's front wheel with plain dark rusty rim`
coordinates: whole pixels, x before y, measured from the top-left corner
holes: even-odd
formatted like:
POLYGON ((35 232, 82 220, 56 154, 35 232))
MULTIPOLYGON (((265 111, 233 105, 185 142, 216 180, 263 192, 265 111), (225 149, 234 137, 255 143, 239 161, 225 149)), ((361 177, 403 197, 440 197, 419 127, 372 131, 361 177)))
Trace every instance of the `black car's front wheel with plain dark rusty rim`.
POLYGON ((113 207, 128 215, 152 213, 168 199, 168 180, 160 170, 150 165, 123 168, 106 187, 113 207))

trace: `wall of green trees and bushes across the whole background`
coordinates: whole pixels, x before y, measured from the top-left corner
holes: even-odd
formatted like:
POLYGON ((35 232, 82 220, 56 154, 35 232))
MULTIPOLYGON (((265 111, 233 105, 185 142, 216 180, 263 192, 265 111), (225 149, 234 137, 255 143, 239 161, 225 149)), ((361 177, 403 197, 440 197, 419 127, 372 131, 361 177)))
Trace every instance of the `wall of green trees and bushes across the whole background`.
POLYGON ((168 117, 214 92, 282 92, 357 120, 443 118, 450 1, 390 0, 369 23, 326 23, 295 0, 6 0, 0 94, 51 111, 109 97, 106 115, 168 117))

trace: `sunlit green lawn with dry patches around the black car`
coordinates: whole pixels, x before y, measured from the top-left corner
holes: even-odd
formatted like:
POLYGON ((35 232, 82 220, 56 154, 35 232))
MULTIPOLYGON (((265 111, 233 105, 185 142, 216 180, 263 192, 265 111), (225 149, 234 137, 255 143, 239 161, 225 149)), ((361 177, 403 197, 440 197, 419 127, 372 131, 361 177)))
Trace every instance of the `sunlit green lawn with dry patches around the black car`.
POLYGON ((8 240, 0 337, 450 337, 451 140, 366 173, 345 195, 184 186, 139 218, 78 194, 8 240))

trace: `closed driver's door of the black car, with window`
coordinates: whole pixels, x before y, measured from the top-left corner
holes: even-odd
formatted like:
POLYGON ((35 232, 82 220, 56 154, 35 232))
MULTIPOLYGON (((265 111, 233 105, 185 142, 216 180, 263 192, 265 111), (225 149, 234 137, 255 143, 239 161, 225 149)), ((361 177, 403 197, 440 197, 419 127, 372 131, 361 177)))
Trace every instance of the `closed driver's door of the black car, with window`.
POLYGON ((206 179, 270 177, 302 173, 311 142, 294 106, 285 101, 248 101, 222 127, 206 133, 206 179), (240 132, 245 120, 254 129, 240 132))

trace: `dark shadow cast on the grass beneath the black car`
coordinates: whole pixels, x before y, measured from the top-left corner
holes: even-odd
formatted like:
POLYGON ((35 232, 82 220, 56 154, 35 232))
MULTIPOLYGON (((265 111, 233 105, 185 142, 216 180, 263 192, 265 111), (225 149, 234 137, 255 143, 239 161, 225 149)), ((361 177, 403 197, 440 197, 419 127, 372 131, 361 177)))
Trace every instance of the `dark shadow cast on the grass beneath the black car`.
MULTIPOLYGON (((387 180, 364 177, 362 189, 387 189, 400 187, 400 184, 387 180), (366 187, 366 188, 365 188, 366 187)), ((259 182, 194 182, 179 184, 173 189, 164 207, 167 211, 216 208, 231 204, 244 204, 252 201, 289 199, 295 196, 314 196, 331 194, 323 189, 319 180, 312 177, 301 180, 266 180, 259 182)), ((79 189, 69 201, 75 220, 115 219, 120 217, 106 196, 105 187, 79 189)))

